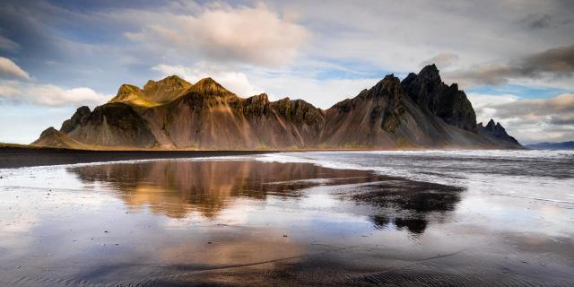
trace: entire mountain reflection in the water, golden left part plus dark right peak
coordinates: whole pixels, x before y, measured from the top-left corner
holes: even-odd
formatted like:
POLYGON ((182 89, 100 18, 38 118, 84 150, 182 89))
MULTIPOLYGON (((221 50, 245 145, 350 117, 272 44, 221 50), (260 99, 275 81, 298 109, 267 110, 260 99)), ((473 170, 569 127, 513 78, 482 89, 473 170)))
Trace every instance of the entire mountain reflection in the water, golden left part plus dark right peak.
POLYGON ((309 187, 370 206, 378 229, 421 234, 430 215, 455 209, 461 188, 388 178, 366 170, 335 170, 309 163, 263 161, 147 161, 68 169, 85 184, 98 182, 116 192, 133 211, 186 218, 199 212, 214 218, 237 198, 265 201, 268 196, 296 198, 309 187))

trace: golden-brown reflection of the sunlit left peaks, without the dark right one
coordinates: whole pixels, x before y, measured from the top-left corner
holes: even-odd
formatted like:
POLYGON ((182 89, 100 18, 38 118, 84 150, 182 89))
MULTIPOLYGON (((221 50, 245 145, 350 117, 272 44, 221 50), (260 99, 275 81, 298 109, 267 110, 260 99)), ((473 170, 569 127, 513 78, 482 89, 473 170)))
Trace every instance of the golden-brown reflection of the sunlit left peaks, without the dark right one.
POLYGON ((84 183, 99 182, 128 206, 184 218, 198 211, 212 218, 235 197, 265 200, 300 196, 303 188, 382 179, 361 170, 261 161, 147 161, 68 169, 84 183))

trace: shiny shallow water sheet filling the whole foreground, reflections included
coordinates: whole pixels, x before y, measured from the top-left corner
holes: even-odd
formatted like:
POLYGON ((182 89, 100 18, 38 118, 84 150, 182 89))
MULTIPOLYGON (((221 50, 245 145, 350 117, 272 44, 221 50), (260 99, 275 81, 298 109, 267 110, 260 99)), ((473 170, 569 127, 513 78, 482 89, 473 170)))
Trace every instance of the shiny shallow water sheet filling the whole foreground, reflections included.
POLYGON ((276 152, 0 177, 0 285, 574 284, 574 152, 276 152))

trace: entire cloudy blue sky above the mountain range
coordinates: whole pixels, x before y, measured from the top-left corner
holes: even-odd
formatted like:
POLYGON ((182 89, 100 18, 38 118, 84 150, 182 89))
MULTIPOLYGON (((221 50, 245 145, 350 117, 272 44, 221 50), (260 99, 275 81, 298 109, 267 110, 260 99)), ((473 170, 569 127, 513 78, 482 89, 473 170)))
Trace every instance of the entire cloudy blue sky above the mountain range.
POLYGON ((0 142, 171 74, 327 109, 431 63, 478 122, 520 143, 574 140, 574 2, 401 2, 3 0, 0 142))

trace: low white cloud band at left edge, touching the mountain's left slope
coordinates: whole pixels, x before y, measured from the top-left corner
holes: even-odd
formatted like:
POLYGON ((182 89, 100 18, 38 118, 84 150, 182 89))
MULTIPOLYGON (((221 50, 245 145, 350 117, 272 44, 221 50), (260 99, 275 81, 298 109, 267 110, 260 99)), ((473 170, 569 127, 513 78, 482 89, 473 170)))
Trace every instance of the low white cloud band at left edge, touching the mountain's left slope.
POLYGON ((28 103, 39 106, 101 104, 111 98, 90 88, 65 89, 53 84, 0 81, 0 103, 28 103))

